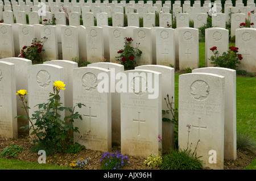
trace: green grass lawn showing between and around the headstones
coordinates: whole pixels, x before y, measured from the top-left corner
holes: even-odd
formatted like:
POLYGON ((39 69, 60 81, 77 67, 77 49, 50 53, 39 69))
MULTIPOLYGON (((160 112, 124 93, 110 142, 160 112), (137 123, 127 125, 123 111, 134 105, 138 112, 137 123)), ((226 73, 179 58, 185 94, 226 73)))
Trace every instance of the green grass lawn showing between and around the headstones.
MULTIPOLYGON (((234 45, 234 44, 230 44, 234 45)), ((199 43, 200 67, 205 66, 204 43, 199 43)), ((175 102, 179 98, 179 75, 175 74, 175 102)), ((255 77, 237 77, 237 132, 249 133, 255 140, 256 138, 256 78, 255 77)), ((175 105, 175 108, 178 104, 175 105)), ((246 169, 255 170, 256 161, 254 159, 246 169)), ((69 167, 53 166, 48 164, 28 163, 13 159, 0 158, 0 170, 63 170, 71 169, 69 167)))

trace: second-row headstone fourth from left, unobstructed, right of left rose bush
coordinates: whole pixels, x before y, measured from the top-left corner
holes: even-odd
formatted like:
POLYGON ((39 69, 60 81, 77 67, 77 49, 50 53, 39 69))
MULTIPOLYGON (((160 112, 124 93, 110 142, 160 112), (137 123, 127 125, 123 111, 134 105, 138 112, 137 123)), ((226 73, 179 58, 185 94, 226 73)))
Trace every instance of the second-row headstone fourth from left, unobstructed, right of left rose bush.
POLYGON ((63 60, 79 57, 79 41, 77 27, 61 27, 61 45, 63 60))

